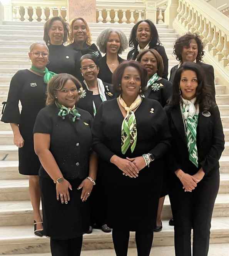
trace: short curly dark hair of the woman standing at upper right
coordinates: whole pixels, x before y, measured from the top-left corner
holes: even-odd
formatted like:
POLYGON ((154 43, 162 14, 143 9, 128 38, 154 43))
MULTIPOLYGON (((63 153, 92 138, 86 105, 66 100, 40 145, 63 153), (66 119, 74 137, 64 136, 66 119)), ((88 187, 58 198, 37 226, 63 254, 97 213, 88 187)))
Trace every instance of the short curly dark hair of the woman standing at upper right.
POLYGON ((196 62, 201 62, 202 57, 204 56, 204 44, 196 33, 192 34, 191 32, 187 32, 184 36, 181 36, 177 39, 174 44, 173 55, 176 55, 176 59, 182 62, 182 51, 184 46, 189 46, 191 40, 194 39, 197 43, 198 54, 196 57, 196 62))

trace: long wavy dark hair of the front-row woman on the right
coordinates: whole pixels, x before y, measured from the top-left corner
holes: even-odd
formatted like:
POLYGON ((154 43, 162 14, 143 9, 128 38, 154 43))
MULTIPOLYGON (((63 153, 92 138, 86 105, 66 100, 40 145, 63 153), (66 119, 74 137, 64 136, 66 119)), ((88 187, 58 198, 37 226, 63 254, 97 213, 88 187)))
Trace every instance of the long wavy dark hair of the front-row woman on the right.
POLYGON ((211 89, 209 85, 206 84, 204 72, 196 63, 185 62, 178 68, 176 75, 172 84, 172 97, 169 100, 169 105, 171 107, 177 107, 181 101, 180 91, 180 81, 182 72, 186 70, 192 70, 196 73, 198 86, 196 88, 196 103, 199 103, 201 111, 209 111, 211 107, 214 107, 216 104, 213 101, 211 89))

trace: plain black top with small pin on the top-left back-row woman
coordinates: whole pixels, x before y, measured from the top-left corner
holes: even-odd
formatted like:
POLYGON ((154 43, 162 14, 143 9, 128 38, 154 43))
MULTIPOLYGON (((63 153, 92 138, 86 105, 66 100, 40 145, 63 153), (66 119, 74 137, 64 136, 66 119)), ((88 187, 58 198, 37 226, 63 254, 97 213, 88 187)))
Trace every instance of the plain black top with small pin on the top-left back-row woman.
POLYGON ((48 46, 49 49, 49 63, 47 68, 49 71, 54 73, 68 73, 75 76, 77 79, 81 79, 82 75, 80 73, 80 57, 81 55, 76 51, 69 49, 68 47, 62 45, 48 46))

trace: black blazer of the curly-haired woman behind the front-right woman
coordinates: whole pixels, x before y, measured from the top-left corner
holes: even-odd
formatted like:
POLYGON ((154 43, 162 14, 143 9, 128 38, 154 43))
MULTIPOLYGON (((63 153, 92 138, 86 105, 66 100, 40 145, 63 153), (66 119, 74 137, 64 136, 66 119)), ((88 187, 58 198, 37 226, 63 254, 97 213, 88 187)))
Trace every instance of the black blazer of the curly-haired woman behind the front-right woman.
MULTIPOLYGON (((206 82, 209 86, 211 86, 211 92, 212 92, 212 97, 215 100, 216 98, 216 89, 215 89, 215 76, 214 76, 214 68, 212 65, 202 63, 202 62, 197 62, 198 65, 201 66, 201 68, 204 70, 204 75, 206 82)), ((177 71, 178 65, 174 66, 170 70, 170 77, 169 81, 173 83, 176 71, 177 71)))

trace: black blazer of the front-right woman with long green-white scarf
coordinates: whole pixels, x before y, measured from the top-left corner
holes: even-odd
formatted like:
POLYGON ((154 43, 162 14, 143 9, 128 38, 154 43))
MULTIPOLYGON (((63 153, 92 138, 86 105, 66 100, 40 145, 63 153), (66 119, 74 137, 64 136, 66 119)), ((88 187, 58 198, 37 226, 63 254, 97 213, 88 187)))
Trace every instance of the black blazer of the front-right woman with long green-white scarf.
POLYGON ((217 105, 209 111, 210 117, 205 117, 200 110, 197 125, 198 163, 196 168, 189 160, 186 134, 180 106, 165 107, 172 134, 172 148, 169 151, 169 170, 174 172, 181 169, 193 175, 201 167, 205 174, 219 170, 219 159, 224 150, 224 133, 217 105))

